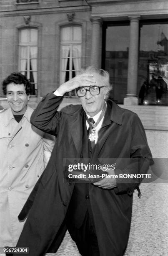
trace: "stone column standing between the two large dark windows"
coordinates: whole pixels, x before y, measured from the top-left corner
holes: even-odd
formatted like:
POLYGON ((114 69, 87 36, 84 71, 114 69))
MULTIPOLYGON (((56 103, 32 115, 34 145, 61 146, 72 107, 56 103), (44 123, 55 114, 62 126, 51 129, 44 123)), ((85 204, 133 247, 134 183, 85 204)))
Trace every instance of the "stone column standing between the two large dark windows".
POLYGON ((138 43, 140 16, 130 18, 130 47, 128 56, 128 84, 124 105, 138 105, 137 80, 138 80, 138 43))

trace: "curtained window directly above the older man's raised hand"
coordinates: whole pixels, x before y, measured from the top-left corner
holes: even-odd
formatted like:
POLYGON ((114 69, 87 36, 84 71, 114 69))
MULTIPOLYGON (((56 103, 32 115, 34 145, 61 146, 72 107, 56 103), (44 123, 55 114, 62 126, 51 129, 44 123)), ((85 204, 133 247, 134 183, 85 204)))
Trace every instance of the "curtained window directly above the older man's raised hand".
MULTIPOLYGON (((81 69, 82 29, 80 26, 61 28, 60 33, 60 84, 75 77, 81 69)), ((75 96, 72 91, 67 96, 75 96)))

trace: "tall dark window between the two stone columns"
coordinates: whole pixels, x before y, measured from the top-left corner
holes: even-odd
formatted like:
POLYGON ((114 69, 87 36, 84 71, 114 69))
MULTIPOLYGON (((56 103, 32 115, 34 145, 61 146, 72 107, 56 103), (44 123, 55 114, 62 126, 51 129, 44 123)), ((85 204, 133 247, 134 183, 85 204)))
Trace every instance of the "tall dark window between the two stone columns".
POLYGON ((109 97, 120 104, 127 94, 129 33, 127 21, 103 24, 102 68, 109 72, 113 86, 109 97))

